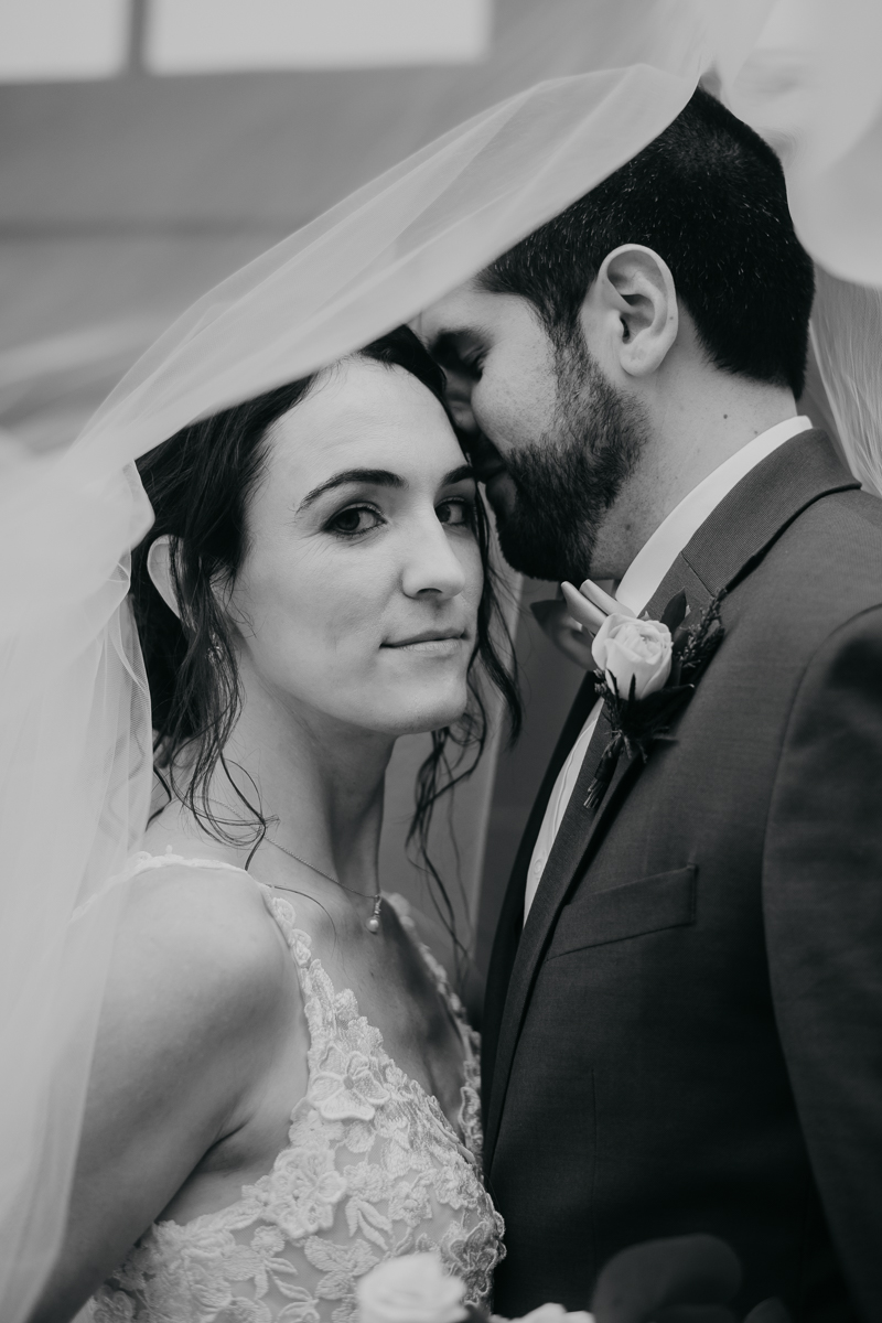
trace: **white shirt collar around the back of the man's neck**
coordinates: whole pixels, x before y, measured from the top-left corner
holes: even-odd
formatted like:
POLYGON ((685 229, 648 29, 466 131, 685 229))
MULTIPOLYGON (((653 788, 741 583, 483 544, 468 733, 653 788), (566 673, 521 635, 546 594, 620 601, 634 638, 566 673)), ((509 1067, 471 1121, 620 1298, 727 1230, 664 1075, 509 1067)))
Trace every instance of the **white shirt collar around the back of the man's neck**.
POLYGON ((616 589, 616 599, 632 611, 643 611, 693 533, 698 532, 723 496, 774 450, 811 427, 811 419, 801 414, 775 423, 693 487, 637 552, 616 589))

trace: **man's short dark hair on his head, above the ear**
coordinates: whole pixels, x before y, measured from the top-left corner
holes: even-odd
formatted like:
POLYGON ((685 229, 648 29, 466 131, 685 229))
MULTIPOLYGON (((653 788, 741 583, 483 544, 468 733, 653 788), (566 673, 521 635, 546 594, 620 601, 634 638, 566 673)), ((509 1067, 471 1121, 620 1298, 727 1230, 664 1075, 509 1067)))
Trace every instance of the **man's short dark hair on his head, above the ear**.
POLYGON ((648 147, 481 273, 571 337, 606 255, 665 259, 711 363, 801 394, 812 259, 793 232, 772 148, 701 89, 648 147))

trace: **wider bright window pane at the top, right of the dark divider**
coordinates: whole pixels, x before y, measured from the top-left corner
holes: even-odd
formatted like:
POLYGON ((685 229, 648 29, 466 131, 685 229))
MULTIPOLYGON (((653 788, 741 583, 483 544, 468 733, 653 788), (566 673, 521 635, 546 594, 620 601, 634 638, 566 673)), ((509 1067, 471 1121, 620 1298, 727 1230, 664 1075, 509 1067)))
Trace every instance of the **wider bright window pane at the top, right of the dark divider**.
POLYGON ((487 54, 491 0, 151 0, 155 74, 465 64, 487 54))

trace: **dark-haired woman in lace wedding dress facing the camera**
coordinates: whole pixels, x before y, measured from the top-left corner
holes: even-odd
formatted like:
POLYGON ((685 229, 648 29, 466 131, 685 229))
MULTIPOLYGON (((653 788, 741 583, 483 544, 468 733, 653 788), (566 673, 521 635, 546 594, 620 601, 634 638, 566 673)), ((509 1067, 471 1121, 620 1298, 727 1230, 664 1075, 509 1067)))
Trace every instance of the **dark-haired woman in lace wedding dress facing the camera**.
POLYGON ((33 1323, 89 1297, 97 1323, 341 1323, 361 1274, 426 1248, 488 1301, 475 1037, 377 876, 398 736, 438 732, 424 822, 479 672, 517 710, 440 398, 399 329, 139 462, 156 521, 131 595, 168 794, 128 869, 33 1323))

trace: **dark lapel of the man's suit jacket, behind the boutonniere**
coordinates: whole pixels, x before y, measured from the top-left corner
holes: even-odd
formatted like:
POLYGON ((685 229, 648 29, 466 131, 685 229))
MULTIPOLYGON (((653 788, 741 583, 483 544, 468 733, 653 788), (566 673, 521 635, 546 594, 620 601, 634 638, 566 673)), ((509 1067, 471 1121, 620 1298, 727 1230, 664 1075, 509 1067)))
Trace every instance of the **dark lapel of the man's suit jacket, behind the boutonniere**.
MULTIPOLYGON (((690 613, 701 614, 717 593, 731 587, 759 564, 775 538, 808 505, 824 495, 853 487, 860 487, 860 483, 842 468, 824 433, 803 433, 785 442, 768 459, 752 468, 702 524, 661 581, 647 607, 648 617, 657 619, 670 598, 681 589, 686 593, 690 613)), ((514 1049, 542 954, 574 880, 587 867, 591 847, 596 844, 600 832, 607 828, 624 803, 639 771, 637 766, 623 754, 596 812, 584 808, 587 790, 598 770, 608 736, 610 724, 604 712, 584 755, 510 966, 508 995, 495 1050, 492 1093, 487 1102, 488 1172, 514 1049)), ((559 765, 565 757, 566 753, 559 765)), ((540 816, 536 833, 541 820, 540 816)), ((520 901, 522 912, 522 880, 520 901)), ((501 995, 497 996, 497 1002, 501 1002, 501 995)))

